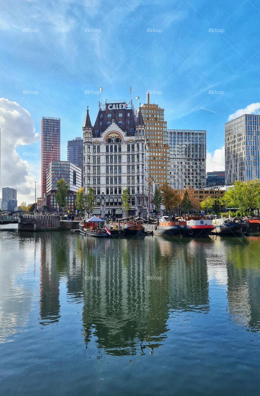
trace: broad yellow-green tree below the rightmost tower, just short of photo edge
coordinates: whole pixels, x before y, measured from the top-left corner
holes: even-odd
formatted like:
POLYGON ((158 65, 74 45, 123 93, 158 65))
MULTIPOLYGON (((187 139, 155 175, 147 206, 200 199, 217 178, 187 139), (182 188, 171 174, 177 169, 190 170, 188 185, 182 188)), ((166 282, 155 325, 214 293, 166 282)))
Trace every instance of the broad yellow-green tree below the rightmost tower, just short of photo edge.
POLYGON ((226 205, 229 208, 238 208, 241 217, 248 208, 247 202, 246 183, 241 180, 236 180, 233 186, 220 198, 220 203, 222 205, 226 205))

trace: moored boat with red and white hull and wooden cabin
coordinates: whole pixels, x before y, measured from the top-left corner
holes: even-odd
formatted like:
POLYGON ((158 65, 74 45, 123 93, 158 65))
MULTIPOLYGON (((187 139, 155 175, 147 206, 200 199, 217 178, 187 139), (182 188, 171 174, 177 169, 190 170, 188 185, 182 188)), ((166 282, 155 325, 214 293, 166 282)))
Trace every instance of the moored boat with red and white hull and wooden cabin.
POLYGON ((193 237, 208 235, 215 228, 215 226, 212 224, 210 217, 206 216, 206 218, 204 219, 201 213, 190 213, 188 215, 183 215, 180 221, 187 222, 187 225, 191 228, 193 232, 193 237))

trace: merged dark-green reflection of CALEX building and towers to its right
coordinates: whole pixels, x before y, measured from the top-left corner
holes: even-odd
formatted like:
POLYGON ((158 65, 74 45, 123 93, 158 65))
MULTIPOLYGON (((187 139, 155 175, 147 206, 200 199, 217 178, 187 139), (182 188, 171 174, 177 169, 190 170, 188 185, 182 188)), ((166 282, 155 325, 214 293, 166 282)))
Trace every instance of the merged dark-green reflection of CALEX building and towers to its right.
POLYGON ((111 354, 161 345, 169 309, 208 310, 205 258, 164 238, 96 240, 84 244, 84 336, 111 354), (174 255, 174 249, 176 254, 174 255))

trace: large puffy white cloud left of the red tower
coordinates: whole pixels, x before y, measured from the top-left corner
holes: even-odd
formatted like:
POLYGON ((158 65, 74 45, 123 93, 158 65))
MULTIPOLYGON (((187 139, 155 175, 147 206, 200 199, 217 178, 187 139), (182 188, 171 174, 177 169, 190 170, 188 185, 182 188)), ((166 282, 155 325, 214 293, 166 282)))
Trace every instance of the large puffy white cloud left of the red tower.
MULTIPOLYGON (((35 178, 35 173, 29 171, 28 162, 15 150, 17 145, 31 145, 40 139, 35 133, 31 114, 18 103, 0 98, 0 128, 1 187, 17 188, 18 204, 22 200, 34 202, 34 182, 40 183, 39 172, 35 178)), ((24 151, 26 156, 26 149, 24 151)), ((31 155, 31 152, 27 154, 31 155)))

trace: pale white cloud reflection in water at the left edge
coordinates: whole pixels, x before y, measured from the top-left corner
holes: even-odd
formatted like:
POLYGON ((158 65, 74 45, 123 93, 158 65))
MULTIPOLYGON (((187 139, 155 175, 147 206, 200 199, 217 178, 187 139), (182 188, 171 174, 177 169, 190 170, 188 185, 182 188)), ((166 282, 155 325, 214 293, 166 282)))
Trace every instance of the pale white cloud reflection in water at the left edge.
POLYGON ((29 321, 33 302, 31 284, 35 282, 30 273, 34 238, 28 238, 26 246, 21 248, 16 232, 1 230, 0 342, 12 341, 29 321))

